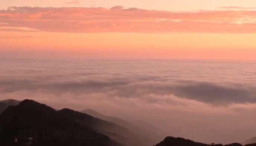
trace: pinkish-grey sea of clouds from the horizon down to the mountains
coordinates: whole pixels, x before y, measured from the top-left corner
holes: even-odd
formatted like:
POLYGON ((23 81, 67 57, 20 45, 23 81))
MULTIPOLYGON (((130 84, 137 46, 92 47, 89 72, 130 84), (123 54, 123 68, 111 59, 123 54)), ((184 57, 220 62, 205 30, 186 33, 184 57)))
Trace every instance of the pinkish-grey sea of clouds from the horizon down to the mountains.
POLYGON ((256 136, 256 62, 0 60, 0 100, 94 109, 205 143, 256 136))

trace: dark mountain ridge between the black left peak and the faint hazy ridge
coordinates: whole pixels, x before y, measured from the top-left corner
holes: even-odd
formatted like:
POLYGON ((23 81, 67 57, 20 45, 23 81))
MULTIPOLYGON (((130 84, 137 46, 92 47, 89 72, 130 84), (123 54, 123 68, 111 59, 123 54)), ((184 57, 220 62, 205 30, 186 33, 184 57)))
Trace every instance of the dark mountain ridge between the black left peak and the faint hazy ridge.
POLYGON ((90 126, 97 132, 103 133, 126 146, 152 146, 156 144, 151 139, 141 137, 125 127, 95 118, 85 113, 76 112, 70 109, 62 109, 59 110, 58 113, 68 116, 70 119, 77 120, 81 124, 90 126))

